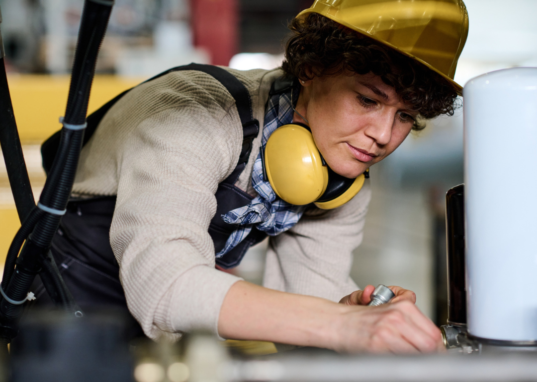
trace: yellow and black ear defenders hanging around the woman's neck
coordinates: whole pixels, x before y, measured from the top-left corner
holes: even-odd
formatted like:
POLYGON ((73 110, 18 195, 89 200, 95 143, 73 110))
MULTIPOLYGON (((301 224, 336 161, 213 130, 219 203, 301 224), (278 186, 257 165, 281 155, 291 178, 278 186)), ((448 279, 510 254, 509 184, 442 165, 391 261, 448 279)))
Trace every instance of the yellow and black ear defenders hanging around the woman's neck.
POLYGON ((274 192, 287 203, 315 203, 322 209, 344 205, 360 191, 368 171, 355 179, 332 171, 315 145, 308 126, 293 123, 276 129, 265 146, 265 173, 274 192))

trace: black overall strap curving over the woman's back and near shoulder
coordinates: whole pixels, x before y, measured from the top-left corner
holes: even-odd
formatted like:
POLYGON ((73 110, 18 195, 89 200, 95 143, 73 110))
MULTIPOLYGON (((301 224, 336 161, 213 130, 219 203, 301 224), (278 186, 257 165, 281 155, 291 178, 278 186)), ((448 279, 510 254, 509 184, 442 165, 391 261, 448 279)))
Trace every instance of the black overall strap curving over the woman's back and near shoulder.
MULTIPOLYGON (((144 81, 142 84, 162 77, 165 74, 182 70, 198 70, 200 72, 204 72, 213 76, 224 87, 226 87, 231 96, 233 96, 233 98, 235 99, 235 104, 237 106, 238 115, 241 118, 241 124, 243 129, 242 151, 237 162, 237 166, 248 162, 248 157, 250 156, 250 152, 252 151, 253 139, 255 139, 257 137, 257 134, 259 133, 259 122, 256 119, 253 119, 250 93, 248 93, 248 90, 246 89, 244 84, 239 81, 233 74, 229 73, 225 69, 220 68, 219 66, 192 63, 189 65, 177 66, 176 68, 166 70, 165 72, 157 74, 155 77, 144 81)), ((95 133, 95 130, 97 130, 97 126, 99 125, 100 121, 103 119, 107 111, 110 110, 110 108, 112 108, 112 106, 114 106, 114 104, 118 102, 122 98, 122 96, 127 94, 132 89, 133 88, 130 88, 125 92, 119 94, 118 96, 101 106, 98 110, 90 114, 88 118, 86 118, 88 127, 84 132, 84 140, 82 142, 82 146, 88 143, 93 133, 95 133)), ((41 146, 43 168, 45 169, 45 172, 47 174, 52 167, 52 163, 54 161, 54 157, 56 156, 59 144, 60 131, 57 131, 41 146)))

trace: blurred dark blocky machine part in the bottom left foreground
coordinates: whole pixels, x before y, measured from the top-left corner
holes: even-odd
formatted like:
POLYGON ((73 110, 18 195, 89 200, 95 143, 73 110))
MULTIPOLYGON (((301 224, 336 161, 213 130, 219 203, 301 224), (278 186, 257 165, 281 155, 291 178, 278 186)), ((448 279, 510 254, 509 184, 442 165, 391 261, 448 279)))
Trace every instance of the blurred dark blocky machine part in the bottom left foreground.
POLYGON ((11 347, 13 382, 132 381, 133 361, 123 317, 95 313, 77 319, 65 312, 29 313, 11 347))

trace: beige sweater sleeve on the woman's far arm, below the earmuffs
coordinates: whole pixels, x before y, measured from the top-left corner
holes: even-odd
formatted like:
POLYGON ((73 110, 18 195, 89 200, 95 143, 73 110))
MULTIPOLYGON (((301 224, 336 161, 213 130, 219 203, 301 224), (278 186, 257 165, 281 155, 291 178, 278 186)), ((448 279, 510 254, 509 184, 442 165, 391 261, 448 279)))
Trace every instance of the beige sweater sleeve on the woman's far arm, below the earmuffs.
POLYGON ((371 188, 366 179, 345 205, 306 213, 292 229, 271 237, 263 284, 267 288, 339 301, 357 290, 352 251, 363 237, 371 188))

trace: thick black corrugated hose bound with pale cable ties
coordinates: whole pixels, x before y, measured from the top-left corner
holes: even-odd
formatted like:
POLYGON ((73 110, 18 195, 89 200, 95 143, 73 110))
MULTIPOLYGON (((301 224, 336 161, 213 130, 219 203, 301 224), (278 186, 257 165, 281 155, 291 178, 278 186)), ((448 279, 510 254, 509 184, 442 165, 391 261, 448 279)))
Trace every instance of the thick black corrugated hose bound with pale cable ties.
MULTIPOLYGON (((72 126, 66 128, 66 125, 85 123, 97 55, 106 32, 113 3, 112 0, 85 0, 84 3, 60 146, 40 197, 42 206, 56 211, 64 211, 67 207, 84 136, 83 129, 73 130, 72 126)), ((76 304, 49 253, 50 243, 59 227, 61 215, 50 212, 43 212, 41 216, 37 216, 38 214, 41 213, 31 214, 32 219, 26 219, 28 222, 25 221, 23 224, 24 232, 21 232, 23 230, 21 227, 19 237, 16 237, 12 249, 10 248, 11 267, 8 269, 8 274, 10 273, 11 277, 6 281, 5 294, 14 301, 22 301, 26 298, 35 275, 42 272, 45 276, 43 283, 47 291, 53 288, 57 294, 55 297, 62 301, 64 306, 74 310, 76 304), (23 241, 26 231, 31 229, 32 225, 35 227, 27 237, 13 270, 12 260, 16 257, 14 253, 18 252, 19 243, 23 241)), ((2 287, 4 287, 4 281, 2 287)), ((22 305, 12 304, 5 298, 2 299, 0 346, 3 344, 2 338, 11 340, 16 335, 17 321, 21 312, 22 305)))

